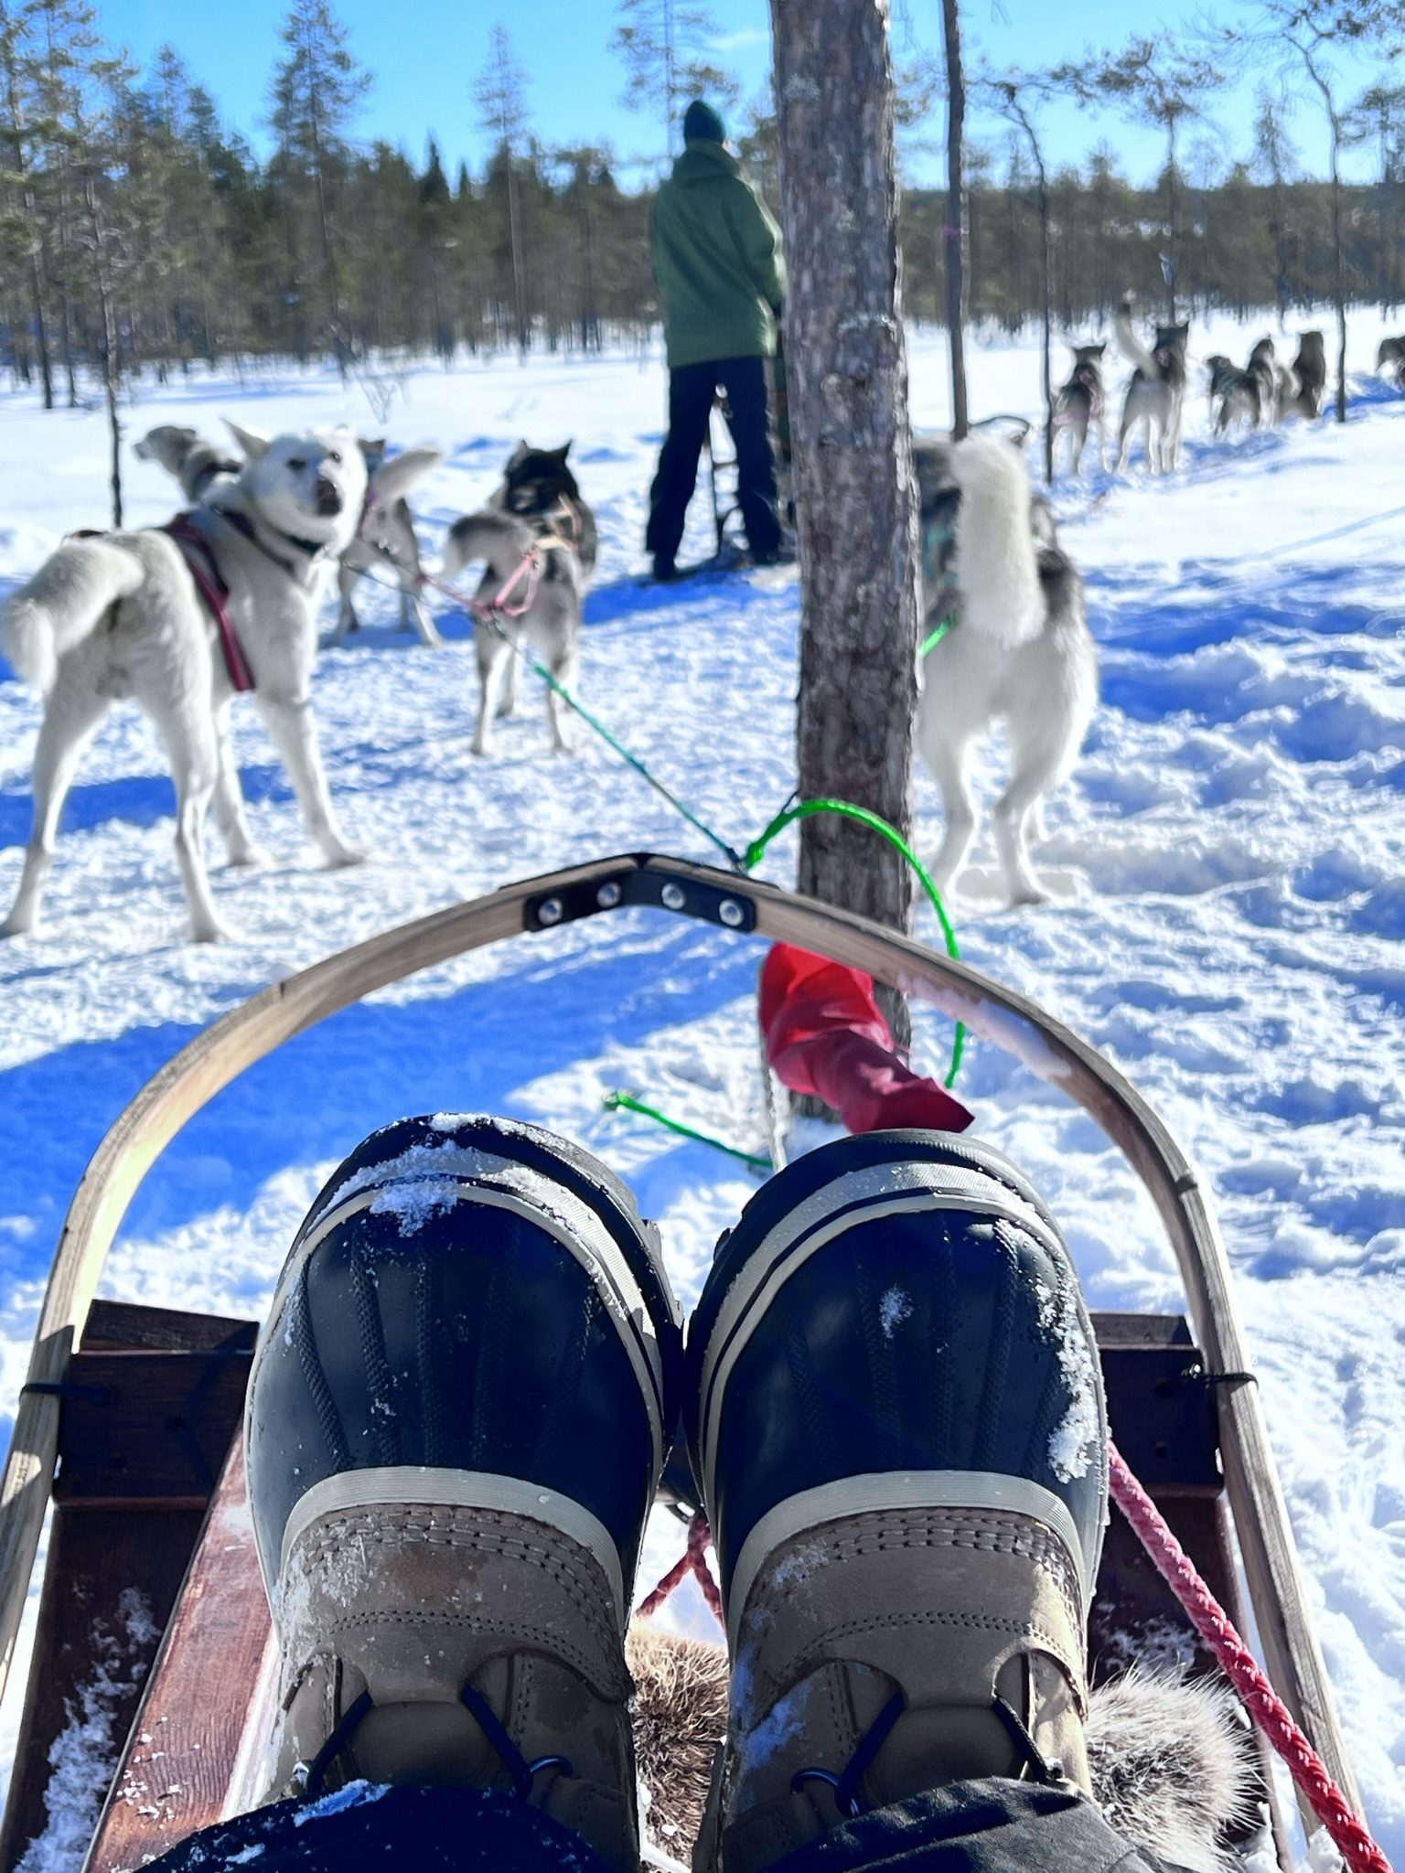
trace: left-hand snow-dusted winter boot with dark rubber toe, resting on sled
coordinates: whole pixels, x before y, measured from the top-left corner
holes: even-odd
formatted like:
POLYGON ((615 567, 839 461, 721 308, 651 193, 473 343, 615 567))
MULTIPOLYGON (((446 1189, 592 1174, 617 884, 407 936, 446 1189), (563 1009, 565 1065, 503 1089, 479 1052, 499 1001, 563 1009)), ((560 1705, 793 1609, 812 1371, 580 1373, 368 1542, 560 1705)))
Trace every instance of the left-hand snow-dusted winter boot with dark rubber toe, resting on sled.
POLYGON ((680 1358, 656 1236, 588 1152, 453 1114, 347 1159, 249 1384, 270 1800, 506 1791, 633 1873, 624 1628, 680 1358))

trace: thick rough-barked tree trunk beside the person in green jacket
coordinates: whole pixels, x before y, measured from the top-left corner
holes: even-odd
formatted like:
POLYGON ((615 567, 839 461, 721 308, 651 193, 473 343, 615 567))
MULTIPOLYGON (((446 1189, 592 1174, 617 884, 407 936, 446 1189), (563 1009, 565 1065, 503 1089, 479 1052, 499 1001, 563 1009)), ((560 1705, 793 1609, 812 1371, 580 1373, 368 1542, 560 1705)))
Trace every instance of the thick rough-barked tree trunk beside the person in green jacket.
MULTIPOLYGON (((920 560, 888 0, 772 0, 772 26, 804 599, 800 796, 850 800, 910 837, 920 560)), ((910 925, 907 863, 834 815, 802 824, 800 890, 910 925)), ((890 1019, 905 1041, 905 1006, 890 1019)))

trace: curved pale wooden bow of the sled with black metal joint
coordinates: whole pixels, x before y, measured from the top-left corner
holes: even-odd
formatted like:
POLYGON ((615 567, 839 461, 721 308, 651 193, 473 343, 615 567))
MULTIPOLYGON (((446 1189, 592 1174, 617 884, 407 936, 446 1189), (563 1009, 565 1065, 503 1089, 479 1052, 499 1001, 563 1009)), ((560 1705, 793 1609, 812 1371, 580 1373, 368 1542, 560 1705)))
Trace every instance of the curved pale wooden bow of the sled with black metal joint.
MULTIPOLYGON (((1118 1146, 1156 1202, 1208 1371, 1248 1369, 1229 1259, 1191 1163, 1141 1094, 1036 1002, 867 918, 710 865, 654 854, 575 865, 451 905, 274 983, 189 1041, 116 1118, 64 1219, 0 1480, 0 1695, 58 1453, 60 1397, 36 1386, 64 1382, 127 1204, 180 1128, 283 1041, 392 981, 491 942, 641 905, 862 968, 965 1021, 1058 1084, 1118 1146)), ((1360 1809, 1257 1388, 1220 1384, 1214 1392, 1225 1487, 1268 1676, 1360 1809)), ((1306 1822, 1315 1824, 1311 1815, 1306 1822)))

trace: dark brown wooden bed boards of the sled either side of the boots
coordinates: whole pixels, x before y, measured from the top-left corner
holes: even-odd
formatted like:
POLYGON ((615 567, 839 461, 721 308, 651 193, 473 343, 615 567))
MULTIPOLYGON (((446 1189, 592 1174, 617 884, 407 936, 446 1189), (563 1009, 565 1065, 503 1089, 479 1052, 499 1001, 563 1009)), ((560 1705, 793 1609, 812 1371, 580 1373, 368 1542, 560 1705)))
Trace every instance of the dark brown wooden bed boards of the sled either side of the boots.
MULTIPOLYGON (((1113 1438, 1242 1624, 1216 1382, 1178 1315, 1094 1313, 1113 1438)), ((118 1873, 259 1794, 277 1659, 244 1480, 255 1324, 96 1302, 69 1362, 34 1667, 0 1832, 11 1873, 47 1824, 51 1749, 105 1659, 126 1736, 84 1873, 118 1873), (116 1650, 114 1650, 116 1648, 116 1650)), ((680 1532, 682 1545, 682 1532, 680 1532)), ((641 1592, 652 1583, 641 1583, 641 1592)), ((1094 1682, 1218 1667, 1115 1512, 1088 1626, 1094 1682)), ((1281 1819, 1264 1776, 1279 1862, 1281 1819)))

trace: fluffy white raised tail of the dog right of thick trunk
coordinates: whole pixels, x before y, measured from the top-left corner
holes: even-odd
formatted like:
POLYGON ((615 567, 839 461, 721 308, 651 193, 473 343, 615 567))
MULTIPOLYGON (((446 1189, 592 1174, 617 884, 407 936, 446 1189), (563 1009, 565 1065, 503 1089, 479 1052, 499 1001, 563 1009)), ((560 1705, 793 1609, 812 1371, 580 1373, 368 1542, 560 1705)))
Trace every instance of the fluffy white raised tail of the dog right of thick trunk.
POLYGON ((952 474, 961 487, 961 631, 1000 644, 1027 642, 1040 635, 1043 599, 1025 457, 1004 436, 972 435, 952 451, 952 474))

